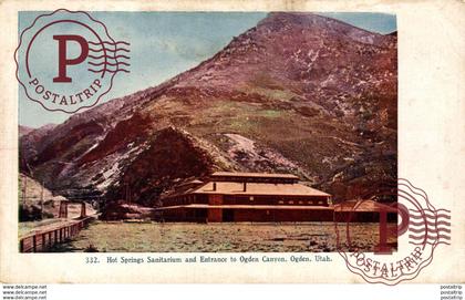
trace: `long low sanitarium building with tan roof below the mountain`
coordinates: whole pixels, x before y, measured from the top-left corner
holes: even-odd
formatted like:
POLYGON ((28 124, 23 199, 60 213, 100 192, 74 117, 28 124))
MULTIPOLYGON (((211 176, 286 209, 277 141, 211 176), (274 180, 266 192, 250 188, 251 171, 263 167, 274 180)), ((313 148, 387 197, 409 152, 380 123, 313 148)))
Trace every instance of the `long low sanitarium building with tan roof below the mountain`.
POLYGON ((217 172, 178 185, 155 208, 165 221, 332 220, 331 195, 291 174, 217 172))

